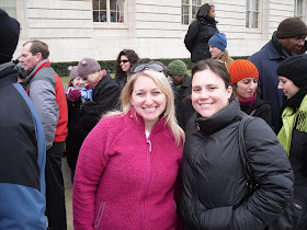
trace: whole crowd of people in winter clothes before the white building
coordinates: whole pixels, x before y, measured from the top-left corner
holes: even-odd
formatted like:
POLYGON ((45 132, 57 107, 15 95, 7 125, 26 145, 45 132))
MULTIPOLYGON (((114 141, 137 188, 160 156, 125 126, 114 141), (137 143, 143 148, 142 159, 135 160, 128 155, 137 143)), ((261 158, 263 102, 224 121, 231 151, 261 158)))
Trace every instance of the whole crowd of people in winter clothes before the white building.
POLYGON ((300 19, 234 60, 205 3, 184 38, 192 76, 123 49, 114 79, 84 57, 66 85, 42 41, 12 61, 20 24, 0 23, 0 229, 67 229, 65 149, 77 230, 307 229, 300 19))

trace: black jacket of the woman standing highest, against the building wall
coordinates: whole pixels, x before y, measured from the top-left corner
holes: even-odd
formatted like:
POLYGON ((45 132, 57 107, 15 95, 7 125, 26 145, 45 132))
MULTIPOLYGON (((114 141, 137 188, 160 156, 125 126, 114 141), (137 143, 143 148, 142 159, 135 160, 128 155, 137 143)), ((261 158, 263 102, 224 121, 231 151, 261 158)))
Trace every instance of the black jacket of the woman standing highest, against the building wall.
POLYGON ((192 62, 211 58, 208 41, 218 33, 217 22, 209 16, 198 16, 187 30, 184 38, 186 49, 191 53, 192 62))

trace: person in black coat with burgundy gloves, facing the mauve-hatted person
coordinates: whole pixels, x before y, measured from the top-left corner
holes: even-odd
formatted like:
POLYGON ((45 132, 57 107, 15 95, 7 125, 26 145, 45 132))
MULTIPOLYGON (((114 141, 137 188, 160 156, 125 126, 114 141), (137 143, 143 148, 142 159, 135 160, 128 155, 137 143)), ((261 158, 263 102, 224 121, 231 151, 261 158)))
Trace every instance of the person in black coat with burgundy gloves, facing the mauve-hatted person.
POLYGON ((70 71, 70 81, 65 85, 68 104, 68 136, 66 139, 66 151, 72 183, 79 150, 87 137, 87 133, 79 124, 80 107, 83 102, 92 101, 92 89, 90 89, 90 84, 87 84, 84 78, 78 76, 77 68, 77 66, 68 67, 68 70, 70 71))

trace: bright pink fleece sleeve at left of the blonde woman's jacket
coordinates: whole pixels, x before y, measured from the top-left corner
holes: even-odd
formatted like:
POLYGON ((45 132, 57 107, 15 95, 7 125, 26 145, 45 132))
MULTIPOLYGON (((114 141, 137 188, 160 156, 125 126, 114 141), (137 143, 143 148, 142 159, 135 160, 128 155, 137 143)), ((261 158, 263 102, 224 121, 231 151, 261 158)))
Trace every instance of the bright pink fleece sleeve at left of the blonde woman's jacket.
POLYGON ((88 135, 79 152, 72 193, 76 230, 93 229, 95 193, 109 159, 105 150, 107 131, 103 122, 88 135))

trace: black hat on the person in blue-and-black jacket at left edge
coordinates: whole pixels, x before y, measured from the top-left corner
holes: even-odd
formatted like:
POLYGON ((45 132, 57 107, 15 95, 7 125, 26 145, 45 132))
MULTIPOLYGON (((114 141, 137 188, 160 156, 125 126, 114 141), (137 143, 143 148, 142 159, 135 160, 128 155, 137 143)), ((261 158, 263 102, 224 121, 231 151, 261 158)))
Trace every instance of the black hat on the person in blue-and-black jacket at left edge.
POLYGON ((0 64, 13 58, 20 35, 20 23, 0 9, 0 64))

